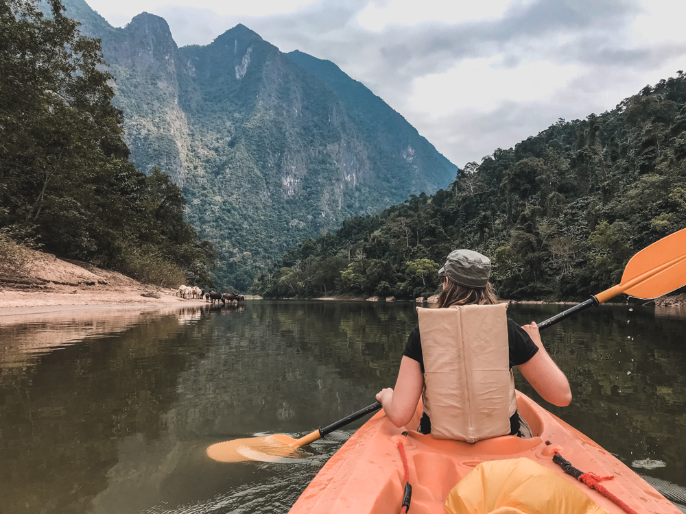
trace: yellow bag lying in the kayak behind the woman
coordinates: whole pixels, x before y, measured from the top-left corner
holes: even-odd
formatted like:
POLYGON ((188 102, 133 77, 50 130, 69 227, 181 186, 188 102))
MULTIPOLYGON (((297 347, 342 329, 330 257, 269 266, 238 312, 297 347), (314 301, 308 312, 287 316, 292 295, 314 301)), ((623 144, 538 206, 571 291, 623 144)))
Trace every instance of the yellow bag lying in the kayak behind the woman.
POLYGON ((609 514, 589 496, 529 458, 477 465, 445 502, 447 514, 609 514))

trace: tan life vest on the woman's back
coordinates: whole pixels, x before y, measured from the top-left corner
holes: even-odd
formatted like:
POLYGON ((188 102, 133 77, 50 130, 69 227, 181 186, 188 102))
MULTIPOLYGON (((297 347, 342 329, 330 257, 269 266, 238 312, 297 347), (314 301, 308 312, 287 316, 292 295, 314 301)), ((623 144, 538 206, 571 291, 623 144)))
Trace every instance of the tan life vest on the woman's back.
POLYGON ((473 443, 510 434, 517 412, 507 304, 417 308, 431 435, 473 443))

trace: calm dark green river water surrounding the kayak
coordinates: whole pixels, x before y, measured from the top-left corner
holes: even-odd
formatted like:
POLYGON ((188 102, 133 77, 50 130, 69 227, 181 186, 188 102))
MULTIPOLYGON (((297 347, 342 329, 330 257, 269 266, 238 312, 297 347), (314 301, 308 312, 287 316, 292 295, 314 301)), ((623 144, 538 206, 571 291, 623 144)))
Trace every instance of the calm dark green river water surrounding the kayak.
MULTIPOLYGON (((215 463, 205 448, 300 437, 374 402, 414 326, 400 302, 0 317, 0 513, 284 513, 355 426, 298 463, 215 463)), ((543 341, 573 403, 546 404, 521 376, 518 389, 636 472, 686 487, 686 312, 601 306, 543 341)))

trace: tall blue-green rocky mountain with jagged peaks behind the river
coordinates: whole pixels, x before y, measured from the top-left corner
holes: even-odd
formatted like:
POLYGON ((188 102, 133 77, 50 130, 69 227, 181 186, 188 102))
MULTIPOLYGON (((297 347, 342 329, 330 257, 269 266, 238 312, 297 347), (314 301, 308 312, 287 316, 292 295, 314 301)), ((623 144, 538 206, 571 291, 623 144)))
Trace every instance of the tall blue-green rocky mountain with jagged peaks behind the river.
POLYGON ((64 5, 102 40, 131 158, 182 186, 188 221, 219 254, 222 289, 245 291, 297 241, 455 178, 412 125, 331 62, 284 54, 244 25, 178 48, 158 16, 119 29, 83 0, 64 5))

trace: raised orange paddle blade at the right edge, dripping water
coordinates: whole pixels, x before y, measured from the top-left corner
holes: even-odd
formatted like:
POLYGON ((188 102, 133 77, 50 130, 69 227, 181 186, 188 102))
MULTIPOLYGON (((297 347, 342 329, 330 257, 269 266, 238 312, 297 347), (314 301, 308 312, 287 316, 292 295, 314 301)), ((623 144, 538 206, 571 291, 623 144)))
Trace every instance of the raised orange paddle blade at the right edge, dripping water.
POLYGON ((625 293, 650 299, 657 298, 686 285, 686 229, 663 237, 633 256, 619 285, 595 297, 598 302, 625 293))

